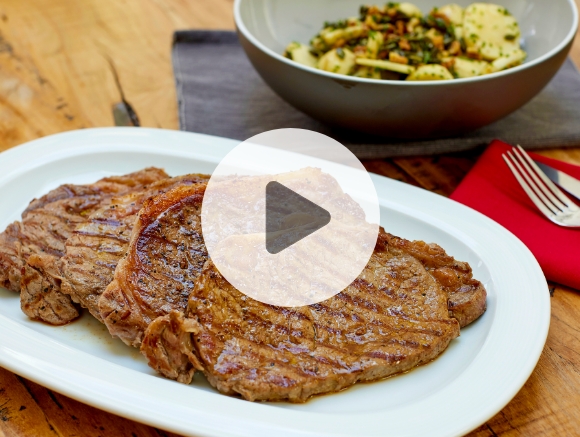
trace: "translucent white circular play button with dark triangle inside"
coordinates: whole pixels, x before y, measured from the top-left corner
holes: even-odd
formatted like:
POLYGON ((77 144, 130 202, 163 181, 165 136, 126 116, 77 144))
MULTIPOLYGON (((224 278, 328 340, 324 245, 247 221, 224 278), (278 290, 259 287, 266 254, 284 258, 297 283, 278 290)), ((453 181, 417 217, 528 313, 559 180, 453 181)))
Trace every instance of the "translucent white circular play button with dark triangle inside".
POLYGON ((201 219, 208 253, 234 287, 296 307, 358 278, 380 211, 369 174, 346 147, 316 132, 279 129, 244 141, 219 163, 201 219))

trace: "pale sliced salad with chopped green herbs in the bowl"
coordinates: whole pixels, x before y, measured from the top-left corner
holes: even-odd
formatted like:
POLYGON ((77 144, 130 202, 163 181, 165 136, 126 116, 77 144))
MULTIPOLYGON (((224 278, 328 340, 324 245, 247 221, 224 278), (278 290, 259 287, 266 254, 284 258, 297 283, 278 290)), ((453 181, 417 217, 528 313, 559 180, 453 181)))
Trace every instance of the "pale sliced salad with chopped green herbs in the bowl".
MULTIPOLYGON (((473 4, 465 10, 463 26, 458 28, 451 23, 452 17, 447 11, 435 7, 421 17, 413 12, 414 7, 398 2, 388 2, 384 7, 362 5, 359 9, 360 17, 325 22, 324 28, 310 41, 308 49, 294 42, 286 48, 284 56, 295 62, 316 66, 317 61, 332 50, 335 53, 334 62, 320 63, 320 68, 326 65, 329 71, 348 75, 376 78, 380 73, 381 78, 385 80, 404 80, 406 73, 401 75, 392 71, 386 72, 384 69, 364 67, 364 62, 359 61, 366 59, 389 62, 389 59, 404 56, 402 61, 408 68, 430 64, 442 65, 453 77, 464 77, 463 74, 467 76, 486 74, 484 73, 486 64, 490 67, 489 71, 492 70, 491 61, 488 63, 487 59, 482 60, 480 50, 485 49, 486 56, 488 53, 497 56, 497 52, 500 52, 500 57, 510 56, 502 50, 509 44, 492 44, 487 32, 484 34, 477 29, 488 29, 489 32, 503 29, 499 34, 500 39, 516 41, 515 44, 519 47, 517 40, 520 31, 517 23, 511 18, 506 20, 502 17, 497 18, 500 15, 509 15, 503 7, 496 9, 490 8, 489 5, 473 4), (488 15, 490 11, 492 15, 488 15), (380 45, 377 44, 379 42, 380 45), (473 70, 463 66, 456 68, 454 59, 458 57, 470 62, 475 62, 473 58, 476 58, 479 60, 477 62, 483 63, 482 67, 481 69, 479 66, 474 67, 473 70)), ((455 14, 455 11, 452 11, 455 14)), ((433 79, 440 77, 439 73, 431 73, 431 76, 433 79)), ((448 76, 445 74, 442 78, 448 76)))

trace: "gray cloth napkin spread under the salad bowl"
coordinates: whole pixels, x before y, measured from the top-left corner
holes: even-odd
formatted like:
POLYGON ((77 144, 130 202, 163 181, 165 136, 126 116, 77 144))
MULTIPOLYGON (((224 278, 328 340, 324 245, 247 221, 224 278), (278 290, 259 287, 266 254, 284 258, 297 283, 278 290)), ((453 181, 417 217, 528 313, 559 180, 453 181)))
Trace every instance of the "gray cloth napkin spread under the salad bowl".
POLYGON ((263 82, 235 32, 176 32, 173 69, 180 128, 191 132, 245 140, 271 129, 310 129, 340 141, 362 159, 461 151, 495 138, 528 149, 580 146, 580 74, 570 59, 515 113, 460 137, 429 141, 341 131, 303 114, 263 82))

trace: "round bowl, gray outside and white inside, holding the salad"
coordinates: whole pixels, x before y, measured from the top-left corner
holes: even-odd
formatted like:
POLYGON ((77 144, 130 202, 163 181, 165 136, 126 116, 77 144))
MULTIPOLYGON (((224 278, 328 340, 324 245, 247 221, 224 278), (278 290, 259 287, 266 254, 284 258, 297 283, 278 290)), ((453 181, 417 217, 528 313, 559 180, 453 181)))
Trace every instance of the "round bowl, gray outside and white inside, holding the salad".
MULTIPOLYGON (((467 6, 470 0, 454 0, 467 6)), ((518 20, 523 65, 498 73, 436 82, 380 81, 306 67, 282 56, 308 43, 324 21, 357 15, 365 0, 236 0, 240 42, 266 83, 323 122, 394 138, 462 134, 490 124, 534 97, 556 74, 574 41, 574 0, 496 0, 518 20)), ((448 0, 413 1, 426 13, 448 0)))

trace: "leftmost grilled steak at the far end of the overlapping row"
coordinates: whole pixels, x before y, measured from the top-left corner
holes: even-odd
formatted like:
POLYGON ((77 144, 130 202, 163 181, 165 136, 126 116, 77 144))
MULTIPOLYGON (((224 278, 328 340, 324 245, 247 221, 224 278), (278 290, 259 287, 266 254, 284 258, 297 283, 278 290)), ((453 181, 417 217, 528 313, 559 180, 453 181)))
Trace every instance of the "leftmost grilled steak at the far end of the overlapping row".
POLYGON ((60 291, 58 260, 74 227, 113 196, 167 178, 149 168, 126 176, 109 177, 90 185, 63 185, 33 200, 22 221, 0 236, 0 283, 21 291, 26 315, 61 325, 78 317, 77 308, 60 291))

